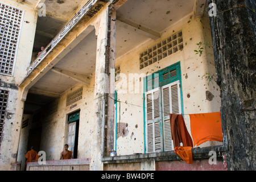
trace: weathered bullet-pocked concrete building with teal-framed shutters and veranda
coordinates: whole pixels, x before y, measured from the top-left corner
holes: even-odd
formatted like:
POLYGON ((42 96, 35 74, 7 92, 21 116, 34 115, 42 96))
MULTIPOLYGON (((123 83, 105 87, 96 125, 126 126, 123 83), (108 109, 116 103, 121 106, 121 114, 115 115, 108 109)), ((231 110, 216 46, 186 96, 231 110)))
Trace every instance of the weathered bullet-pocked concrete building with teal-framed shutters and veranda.
POLYGON ((192 148, 193 164, 171 140, 171 113, 191 134, 189 114, 220 112, 207 2, 0 3, 16 21, 1 20, 15 41, 1 49, 1 170, 24 169, 31 145, 47 163, 28 170, 225 170, 225 135, 192 148), (65 143, 75 159, 59 160, 65 143))

